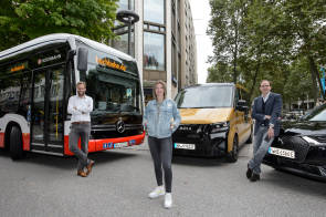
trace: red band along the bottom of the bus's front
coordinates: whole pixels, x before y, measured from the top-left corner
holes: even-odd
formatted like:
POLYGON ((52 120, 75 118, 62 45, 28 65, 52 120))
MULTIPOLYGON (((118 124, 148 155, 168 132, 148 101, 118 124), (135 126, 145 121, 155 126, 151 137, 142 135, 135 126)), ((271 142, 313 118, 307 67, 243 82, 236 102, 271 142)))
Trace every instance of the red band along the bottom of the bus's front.
MULTIPOLYGON (((88 153, 101 152, 105 149, 113 149, 113 144, 128 142, 128 146, 140 145, 144 142, 145 132, 140 135, 120 137, 120 138, 103 138, 103 140, 90 140, 88 142, 88 153), (133 142, 130 142, 133 141, 133 142), (108 145, 112 144, 112 145, 108 145)), ((81 140, 78 142, 78 147, 81 148, 81 140)), ((64 136, 64 154, 74 155, 69 149, 69 136, 64 136)))

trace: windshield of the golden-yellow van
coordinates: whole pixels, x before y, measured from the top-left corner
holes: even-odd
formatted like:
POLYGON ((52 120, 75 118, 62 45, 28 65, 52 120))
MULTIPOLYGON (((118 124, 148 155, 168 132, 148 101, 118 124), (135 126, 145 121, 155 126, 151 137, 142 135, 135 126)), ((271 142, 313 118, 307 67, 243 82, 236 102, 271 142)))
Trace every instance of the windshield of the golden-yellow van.
POLYGON ((188 107, 230 107, 232 86, 196 86, 182 90, 176 96, 179 108, 188 107))

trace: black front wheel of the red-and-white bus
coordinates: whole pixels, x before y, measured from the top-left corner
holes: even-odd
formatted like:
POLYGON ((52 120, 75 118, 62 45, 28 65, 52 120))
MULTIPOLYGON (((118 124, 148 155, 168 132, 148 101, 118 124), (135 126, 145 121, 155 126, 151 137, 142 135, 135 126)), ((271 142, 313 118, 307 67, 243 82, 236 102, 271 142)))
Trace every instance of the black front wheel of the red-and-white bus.
POLYGON ((11 127, 9 151, 12 159, 20 159, 23 157, 22 134, 18 126, 11 127))

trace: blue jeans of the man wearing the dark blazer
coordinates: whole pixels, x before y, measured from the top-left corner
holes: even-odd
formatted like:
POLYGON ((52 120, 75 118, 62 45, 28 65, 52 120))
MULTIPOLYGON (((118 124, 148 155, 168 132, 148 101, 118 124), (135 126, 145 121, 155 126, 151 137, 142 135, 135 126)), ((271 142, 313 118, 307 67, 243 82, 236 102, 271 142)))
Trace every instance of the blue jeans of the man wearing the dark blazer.
POLYGON ((261 164, 263 162, 263 158, 274 141, 274 137, 272 137, 269 142, 264 140, 267 136, 267 126, 260 126, 254 136, 253 157, 248 164, 249 168, 251 168, 254 174, 261 173, 261 164))

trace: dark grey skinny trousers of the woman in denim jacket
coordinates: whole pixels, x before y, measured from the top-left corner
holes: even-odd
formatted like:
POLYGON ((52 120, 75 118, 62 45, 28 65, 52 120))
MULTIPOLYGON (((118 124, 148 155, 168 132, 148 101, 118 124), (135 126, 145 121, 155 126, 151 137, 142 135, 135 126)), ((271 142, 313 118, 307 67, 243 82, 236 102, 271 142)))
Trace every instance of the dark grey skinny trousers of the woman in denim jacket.
POLYGON ((166 192, 171 193, 172 188, 172 140, 156 138, 148 136, 148 145, 154 162, 156 182, 158 186, 162 185, 162 169, 165 172, 166 192))

